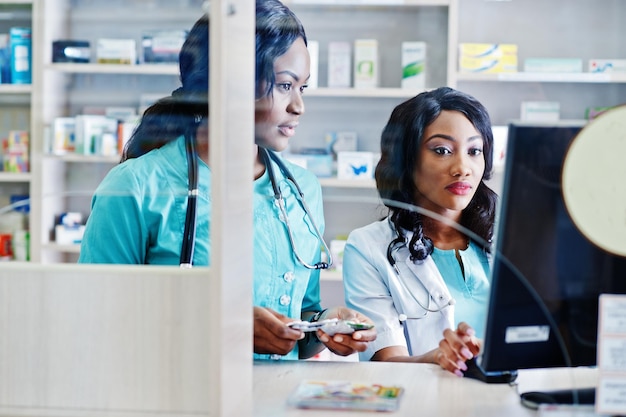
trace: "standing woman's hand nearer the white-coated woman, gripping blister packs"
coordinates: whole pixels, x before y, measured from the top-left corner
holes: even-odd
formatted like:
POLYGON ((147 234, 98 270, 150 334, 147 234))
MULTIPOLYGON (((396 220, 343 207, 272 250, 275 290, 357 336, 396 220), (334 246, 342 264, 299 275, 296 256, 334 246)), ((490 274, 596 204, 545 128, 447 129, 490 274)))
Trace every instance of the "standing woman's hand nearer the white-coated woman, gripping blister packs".
MULTIPOLYGON (((357 323, 374 324, 372 320, 363 314, 347 307, 334 307, 327 309, 319 320, 326 319, 350 320, 357 323)), ((367 343, 376 339, 376 328, 358 330, 352 334, 335 334, 330 336, 323 330, 317 330, 318 339, 333 353, 348 356, 355 352, 363 352, 367 343)))

